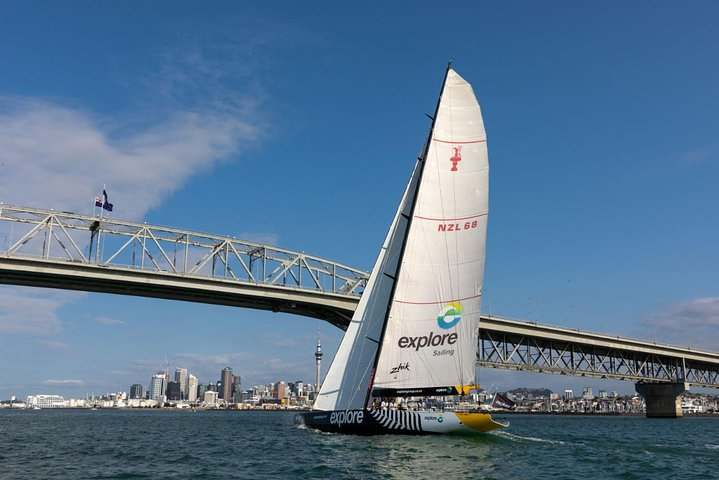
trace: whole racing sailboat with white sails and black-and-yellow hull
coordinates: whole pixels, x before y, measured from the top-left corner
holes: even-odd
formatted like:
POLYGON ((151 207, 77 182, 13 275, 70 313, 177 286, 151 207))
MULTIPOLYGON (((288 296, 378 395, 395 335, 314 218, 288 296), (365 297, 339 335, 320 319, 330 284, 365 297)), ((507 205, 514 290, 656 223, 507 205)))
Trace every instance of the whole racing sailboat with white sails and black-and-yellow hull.
POLYGON ((450 64, 422 154, 357 310, 312 410, 301 416, 306 426, 365 435, 505 426, 487 413, 402 408, 406 397, 478 388, 486 141, 472 87, 450 64))

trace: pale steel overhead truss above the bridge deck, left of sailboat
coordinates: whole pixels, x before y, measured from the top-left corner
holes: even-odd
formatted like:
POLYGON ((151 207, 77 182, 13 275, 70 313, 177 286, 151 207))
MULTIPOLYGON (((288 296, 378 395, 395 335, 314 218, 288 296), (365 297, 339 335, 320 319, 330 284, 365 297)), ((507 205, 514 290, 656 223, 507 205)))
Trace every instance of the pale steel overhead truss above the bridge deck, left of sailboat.
POLYGON ((258 242, 0 204, 0 256, 360 296, 368 274, 258 242))

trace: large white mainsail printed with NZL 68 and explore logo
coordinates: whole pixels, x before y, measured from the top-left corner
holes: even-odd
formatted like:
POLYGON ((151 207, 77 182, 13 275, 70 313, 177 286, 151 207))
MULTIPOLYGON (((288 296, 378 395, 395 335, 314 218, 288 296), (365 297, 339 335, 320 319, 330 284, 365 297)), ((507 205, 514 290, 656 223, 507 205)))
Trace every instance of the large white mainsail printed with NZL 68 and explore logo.
POLYGON ((479 104, 469 83, 450 69, 391 299, 375 388, 474 384, 488 182, 479 104))

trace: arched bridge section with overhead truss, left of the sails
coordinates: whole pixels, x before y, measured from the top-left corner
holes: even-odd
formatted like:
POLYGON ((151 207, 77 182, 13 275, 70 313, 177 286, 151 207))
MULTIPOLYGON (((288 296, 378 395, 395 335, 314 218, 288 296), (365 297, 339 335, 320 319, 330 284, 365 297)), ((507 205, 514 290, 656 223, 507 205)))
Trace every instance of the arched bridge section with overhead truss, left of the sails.
POLYGON ((186 300, 349 322, 367 273, 170 227, 0 204, 0 283, 186 300))

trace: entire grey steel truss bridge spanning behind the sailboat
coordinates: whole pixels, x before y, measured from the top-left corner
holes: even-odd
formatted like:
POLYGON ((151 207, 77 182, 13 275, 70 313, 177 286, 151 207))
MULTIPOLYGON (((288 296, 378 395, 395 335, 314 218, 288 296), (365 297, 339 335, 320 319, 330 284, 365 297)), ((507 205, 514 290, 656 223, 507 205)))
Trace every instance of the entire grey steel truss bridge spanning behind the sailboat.
MULTIPOLYGON (((345 329, 368 274, 235 238, 0 204, 0 283, 296 313, 345 329)), ((482 316, 482 367, 719 388, 719 353, 482 316)))

